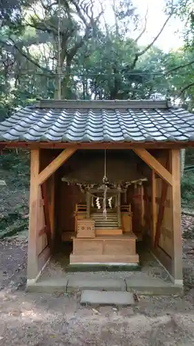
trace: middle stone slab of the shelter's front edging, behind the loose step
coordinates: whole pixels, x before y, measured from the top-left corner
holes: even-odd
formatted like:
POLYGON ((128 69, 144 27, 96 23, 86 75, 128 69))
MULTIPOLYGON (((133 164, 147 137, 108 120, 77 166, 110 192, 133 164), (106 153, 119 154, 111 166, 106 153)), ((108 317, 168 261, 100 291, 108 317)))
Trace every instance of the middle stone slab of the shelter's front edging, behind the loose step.
POLYGON ((122 279, 91 277, 81 279, 73 275, 68 280, 67 291, 82 291, 83 289, 98 291, 126 291, 126 282, 122 279))

